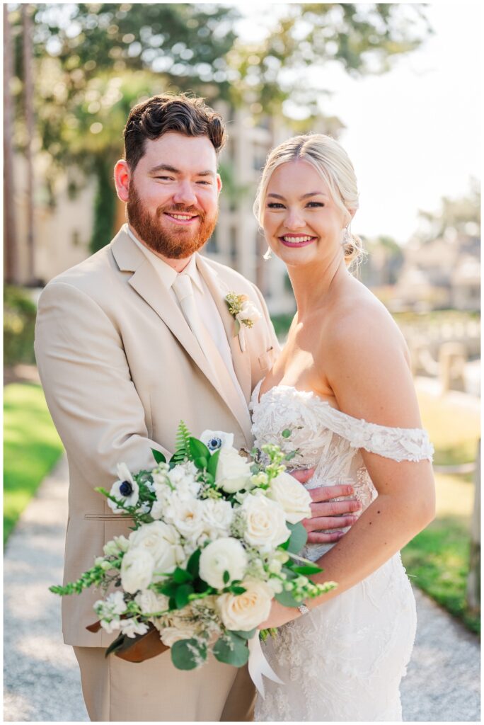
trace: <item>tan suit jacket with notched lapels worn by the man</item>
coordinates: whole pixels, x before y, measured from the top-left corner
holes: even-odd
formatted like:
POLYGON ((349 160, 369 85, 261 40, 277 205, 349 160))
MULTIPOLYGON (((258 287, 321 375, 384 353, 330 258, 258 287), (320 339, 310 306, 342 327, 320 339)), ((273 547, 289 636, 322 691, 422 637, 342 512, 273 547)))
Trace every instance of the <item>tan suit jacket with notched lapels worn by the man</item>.
MULTIPOLYGON (((220 312, 246 402, 272 367, 278 341, 256 287, 197 254, 220 312), (246 349, 234 336, 224 301, 246 294, 262 320, 245 329, 246 349)), ((250 418, 234 389, 219 389, 182 312, 127 233, 80 265, 54 278, 38 305, 36 358, 52 418, 67 451, 69 521, 64 582, 78 579, 114 535, 130 533, 96 486, 110 489, 117 463, 151 467, 151 447, 170 457, 180 420, 194 435, 206 428, 232 431, 251 447, 250 418)), ((131 523, 132 525, 132 523, 131 523)), ((105 647, 113 635, 91 634, 100 592, 63 597, 64 642, 105 647)))

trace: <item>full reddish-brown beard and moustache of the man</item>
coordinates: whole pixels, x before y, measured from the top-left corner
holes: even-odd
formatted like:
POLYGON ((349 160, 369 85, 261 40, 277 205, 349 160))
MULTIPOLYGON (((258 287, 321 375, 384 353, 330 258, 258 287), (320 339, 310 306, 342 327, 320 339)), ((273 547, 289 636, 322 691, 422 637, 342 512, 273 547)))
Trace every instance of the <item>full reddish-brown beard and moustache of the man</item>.
POLYGON ((183 204, 159 206, 155 218, 152 218, 138 196, 133 182, 130 183, 126 213, 128 222, 146 246, 171 260, 190 257, 191 254, 201 249, 212 236, 218 218, 218 210, 214 216, 207 217, 201 209, 193 206, 185 207, 183 204), (164 225, 168 225, 170 222, 164 219, 165 212, 198 214, 198 225, 196 229, 191 229, 183 226, 176 227, 172 224, 172 228, 167 229, 164 225))

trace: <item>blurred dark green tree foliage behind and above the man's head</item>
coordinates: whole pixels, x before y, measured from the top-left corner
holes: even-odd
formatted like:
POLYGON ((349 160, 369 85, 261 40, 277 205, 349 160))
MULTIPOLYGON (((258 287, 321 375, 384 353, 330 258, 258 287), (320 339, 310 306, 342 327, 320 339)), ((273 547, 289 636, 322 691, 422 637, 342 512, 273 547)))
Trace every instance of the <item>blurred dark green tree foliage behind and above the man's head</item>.
MULTIPOLYGON (((96 178, 92 251, 112 233, 112 167, 122 155, 130 107, 167 89, 227 95, 224 57, 236 17, 234 9, 196 4, 35 7, 37 128, 52 162, 46 183, 54 203, 59 170, 70 170, 72 193, 89 175, 96 178)), ((19 9, 12 20, 20 22, 19 9)), ((17 55, 21 46, 19 35, 17 55)))

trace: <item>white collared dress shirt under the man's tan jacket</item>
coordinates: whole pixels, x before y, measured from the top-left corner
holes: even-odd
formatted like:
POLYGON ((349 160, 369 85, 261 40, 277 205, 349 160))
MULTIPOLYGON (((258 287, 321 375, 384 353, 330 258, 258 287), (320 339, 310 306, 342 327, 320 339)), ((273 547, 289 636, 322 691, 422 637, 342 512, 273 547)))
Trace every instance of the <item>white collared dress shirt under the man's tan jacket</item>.
POLYGON ((230 352, 230 345, 228 343, 227 335, 225 334, 225 328, 220 318, 220 312, 217 309, 217 305, 215 305, 212 294, 210 294, 210 291, 206 286, 204 278, 201 276, 199 270, 196 268, 195 254, 191 256, 190 261, 188 262, 188 265, 186 265, 185 269, 182 272, 178 273, 176 270, 170 267, 170 265, 167 265, 166 262, 157 257, 157 254, 151 252, 151 249, 145 247, 144 244, 141 244, 141 241, 136 239, 128 224, 125 224, 123 226, 123 231, 129 234, 131 239, 133 239, 134 243, 139 247, 139 249, 141 249, 141 252, 143 252, 146 259, 149 260, 159 277, 159 281, 166 289, 170 290, 172 299, 175 302, 175 305, 178 305, 180 310, 180 302, 178 301, 178 297, 175 294, 175 290, 172 289, 172 284, 178 274, 188 274, 188 276, 190 276, 193 286, 193 295, 195 297, 195 302, 197 309, 199 310, 200 317, 203 320, 204 326, 208 331, 210 337, 214 341, 215 346, 220 352, 220 356, 222 357, 228 373, 233 380, 233 384, 235 385, 235 390, 242 397, 246 405, 246 399, 243 395, 237 376, 235 375, 235 370, 233 369, 232 353, 230 352))

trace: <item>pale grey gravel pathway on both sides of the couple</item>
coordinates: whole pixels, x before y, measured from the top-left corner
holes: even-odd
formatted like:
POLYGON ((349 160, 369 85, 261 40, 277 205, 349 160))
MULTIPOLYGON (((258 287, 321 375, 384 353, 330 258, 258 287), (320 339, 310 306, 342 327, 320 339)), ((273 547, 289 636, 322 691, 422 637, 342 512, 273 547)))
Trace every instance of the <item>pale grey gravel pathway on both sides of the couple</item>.
MULTIPOLYGON (((4 564, 4 719, 85 722, 78 666, 62 643, 60 599, 67 522, 64 458, 42 484, 9 539, 4 564)), ((480 721, 477 637, 415 590, 418 629, 401 686, 404 720, 480 721)))

